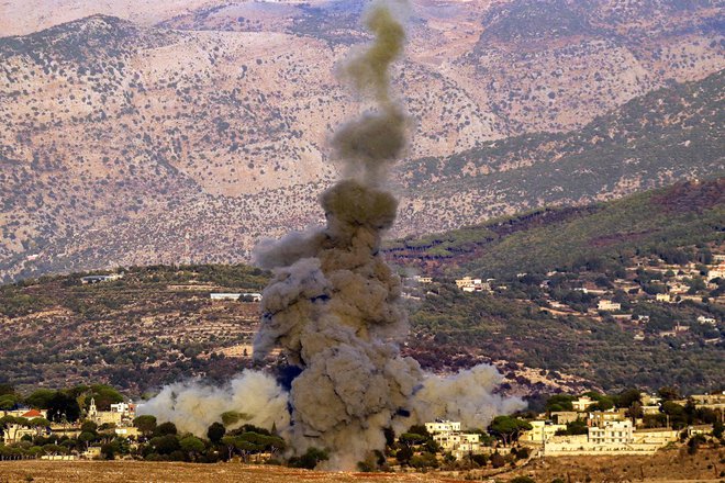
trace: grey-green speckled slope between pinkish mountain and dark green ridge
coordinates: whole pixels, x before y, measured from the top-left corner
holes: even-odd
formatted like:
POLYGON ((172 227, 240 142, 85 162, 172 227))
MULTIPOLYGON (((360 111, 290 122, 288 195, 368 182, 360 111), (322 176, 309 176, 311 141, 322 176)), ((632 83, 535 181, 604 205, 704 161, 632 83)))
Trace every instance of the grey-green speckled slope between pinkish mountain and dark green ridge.
MULTIPOLYGON (((582 204, 725 170, 725 71, 634 99, 567 134, 486 143, 401 169, 403 213, 428 231, 582 204)), ((410 222, 409 222, 410 223, 410 222)))

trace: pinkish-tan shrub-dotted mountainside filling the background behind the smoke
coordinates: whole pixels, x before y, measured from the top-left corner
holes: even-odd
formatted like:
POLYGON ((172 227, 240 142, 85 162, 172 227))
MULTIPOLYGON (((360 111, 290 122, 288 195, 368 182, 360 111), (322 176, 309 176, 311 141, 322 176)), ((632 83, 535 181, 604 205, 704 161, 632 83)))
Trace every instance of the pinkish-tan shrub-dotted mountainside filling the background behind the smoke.
MULTIPOLYGON (((238 261, 321 222, 360 4, 178 3, 0 21, 27 33, 0 37, 0 279, 238 261)), ((681 5, 414 1, 395 234, 722 171, 722 8, 681 5)))

